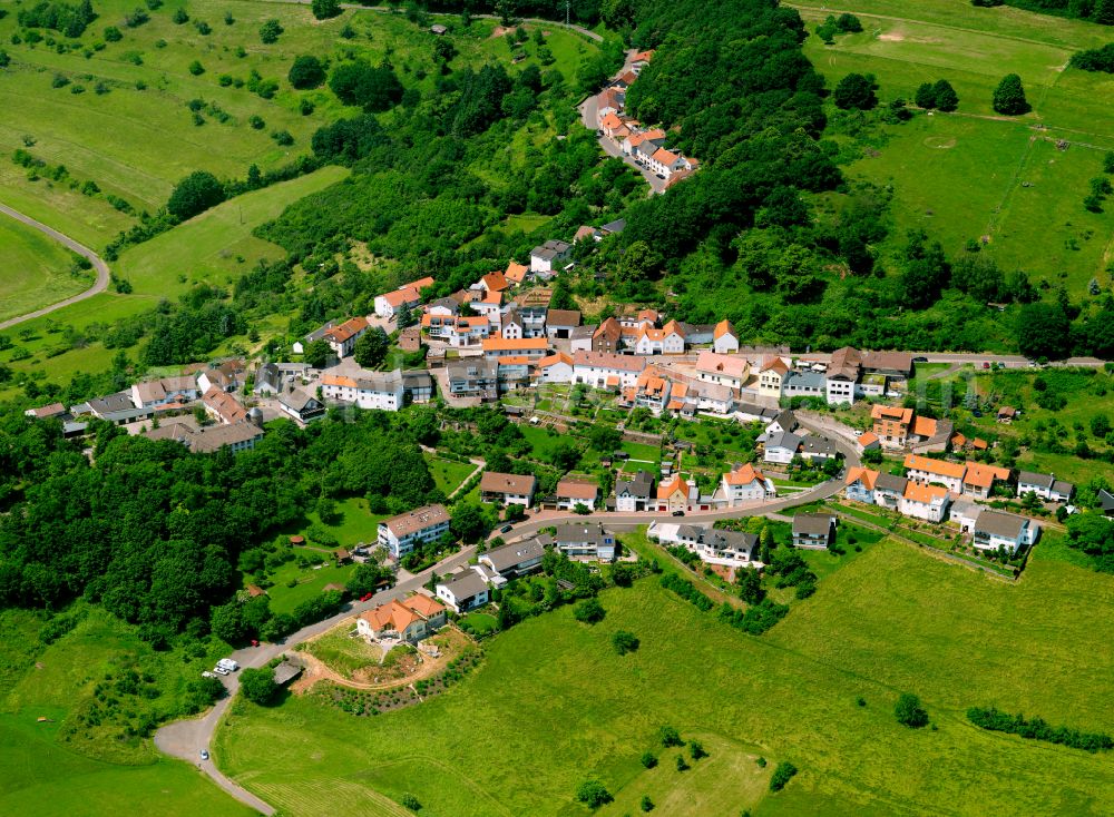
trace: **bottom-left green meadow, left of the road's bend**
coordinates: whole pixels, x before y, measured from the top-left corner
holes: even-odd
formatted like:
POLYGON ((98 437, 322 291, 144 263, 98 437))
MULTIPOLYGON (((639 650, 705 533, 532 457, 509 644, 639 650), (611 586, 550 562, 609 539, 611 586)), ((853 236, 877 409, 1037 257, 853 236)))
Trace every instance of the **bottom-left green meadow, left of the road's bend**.
MULTIPOLYGON (((0 811, 11 815, 253 814, 187 764, 158 757, 148 741, 120 740, 114 729, 71 734, 72 718, 89 705, 92 688, 121 667, 158 676, 158 695, 139 708, 174 706, 187 677, 212 657, 183 660, 155 653, 134 632, 102 613, 49 647, 41 621, 21 611, 0 616, 0 811), (39 721, 39 718, 47 720, 39 721)), ((123 705, 134 707, 136 698, 123 705)))

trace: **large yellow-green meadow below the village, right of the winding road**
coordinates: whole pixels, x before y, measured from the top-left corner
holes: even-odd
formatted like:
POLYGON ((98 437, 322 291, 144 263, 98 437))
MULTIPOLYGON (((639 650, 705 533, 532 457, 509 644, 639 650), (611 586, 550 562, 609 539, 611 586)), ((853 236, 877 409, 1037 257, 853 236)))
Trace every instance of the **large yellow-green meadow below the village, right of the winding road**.
POLYGON ((295 815, 400 814, 404 793, 429 815, 586 814, 574 793, 587 777, 615 795, 616 815, 644 794, 675 803, 670 814, 1082 815, 1114 793, 1108 757, 979 731, 962 715, 997 703, 1114 729, 1114 585, 1039 548, 1012 585, 886 540, 761 638, 653 580, 602 601, 595 627, 563 609, 500 634, 478 671, 414 708, 354 718, 304 698, 241 705, 216 757, 295 815), (617 629, 641 639, 637 652, 615 654, 617 629), (895 721, 906 690, 935 728, 895 721), (711 758, 677 772, 677 750, 656 745, 665 724, 711 758), (647 772, 648 749, 662 764, 647 772), (801 774, 769 795, 780 760, 801 774))

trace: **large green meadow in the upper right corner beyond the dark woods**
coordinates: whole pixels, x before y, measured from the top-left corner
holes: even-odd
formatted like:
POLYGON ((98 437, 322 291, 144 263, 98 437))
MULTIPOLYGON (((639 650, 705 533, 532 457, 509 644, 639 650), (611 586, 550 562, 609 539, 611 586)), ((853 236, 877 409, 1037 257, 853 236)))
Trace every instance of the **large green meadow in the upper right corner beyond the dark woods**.
MULTIPOLYGON (((830 9, 793 3, 810 31, 830 9)), ((849 175, 893 186, 895 240, 924 228, 949 253, 970 238, 1007 270, 1025 269, 1078 296, 1107 279, 1114 219, 1088 213, 1088 180, 1114 148, 1107 110, 1114 79, 1067 68, 1072 53, 1110 38, 1093 23, 1010 8, 976 9, 965 0, 856 0, 841 4, 863 31, 825 46, 810 36, 805 56, 830 86, 873 73, 878 97, 912 100, 921 82, 947 79, 959 95, 955 114, 871 126, 849 175), (999 117, 991 108, 1003 76, 1020 75, 1033 110, 999 117), (1057 140, 1067 140, 1066 150, 1057 140)), ((842 139, 842 137, 837 137, 842 139)))

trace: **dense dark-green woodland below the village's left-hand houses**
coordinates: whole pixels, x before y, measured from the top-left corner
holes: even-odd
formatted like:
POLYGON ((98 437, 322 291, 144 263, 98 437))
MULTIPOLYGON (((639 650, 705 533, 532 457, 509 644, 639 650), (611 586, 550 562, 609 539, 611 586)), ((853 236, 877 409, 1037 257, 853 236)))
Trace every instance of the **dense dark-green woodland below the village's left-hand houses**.
POLYGON ((399 417, 299 430, 280 421, 253 451, 197 455, 95 426, 90 462, 56 423, 0 417, 0 604, 57 609, 85 594, 164 637, 240 585, 243 552, 317 495, 375 512, 438 499, 399 417), (18 490, 17 490, 18 489, 18 490))

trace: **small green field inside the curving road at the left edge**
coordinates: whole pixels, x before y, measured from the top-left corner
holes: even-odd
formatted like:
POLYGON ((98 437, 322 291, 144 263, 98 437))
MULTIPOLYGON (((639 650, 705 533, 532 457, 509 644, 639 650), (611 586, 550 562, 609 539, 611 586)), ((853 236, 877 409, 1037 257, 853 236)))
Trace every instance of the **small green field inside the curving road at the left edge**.
POLYGON ((0 215, 0 321, 87 289, 95 274, 74 275, 74 259, 57 242, 0 215))

